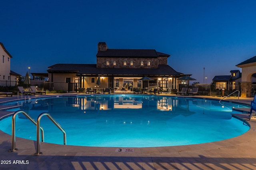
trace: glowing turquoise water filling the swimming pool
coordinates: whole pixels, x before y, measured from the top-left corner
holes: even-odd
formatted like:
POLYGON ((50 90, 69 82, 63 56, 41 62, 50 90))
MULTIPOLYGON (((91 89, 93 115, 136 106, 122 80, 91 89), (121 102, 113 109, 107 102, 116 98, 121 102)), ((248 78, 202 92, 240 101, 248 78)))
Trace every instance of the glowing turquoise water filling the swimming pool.
MULTIPOLYGON (((37 119, 42 112, 65 129, 67 145, 94 147, 163 147, 221 141, 249 130, 232 117, 232 107, 246 105, 206 100, 142 95, 89 95, 12 102, 37 119)), ((0 130, 11 135, 12 117, 0 121, 0 130)), ((42 117, 47 143, 63 144, 63 133, 42 117)), ((16 136, 36 140, 36 126, 16 117, 16 136)))

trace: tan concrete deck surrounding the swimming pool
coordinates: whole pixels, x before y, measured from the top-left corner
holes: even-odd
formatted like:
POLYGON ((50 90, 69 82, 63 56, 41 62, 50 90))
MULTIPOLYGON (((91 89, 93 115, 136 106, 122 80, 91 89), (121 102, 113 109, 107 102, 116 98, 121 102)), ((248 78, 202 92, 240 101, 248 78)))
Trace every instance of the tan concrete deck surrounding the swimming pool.
MULTIPOLYGON (((49 95, 36 95, 36 97, 41 96, 49 95)), ((209 96, 189 97, 222 99, 209 96)), ((17 96, 0 97, 0 102, 15 99, 17 96)), ((253 98, 239 98, 239 101, 238 98, 224 100, 250 104, 253 98)), ((8 113, 10 112, 0 111, 0 117, 8 113)), ((248 132, 218 142, 175 147, 133 148, 133 152, 118 152, 118 148, 114 147, 78 147, 41 142, 40 151, 43 153, 41 156, 34 156, 36 141, 18 137, 16 138, 18 150, 8 152, 12 147, 11 135, 0 131, 0 169, 254 170, 256 169, 256 119, 251 119, 248 123, 251 126, 248 132)))

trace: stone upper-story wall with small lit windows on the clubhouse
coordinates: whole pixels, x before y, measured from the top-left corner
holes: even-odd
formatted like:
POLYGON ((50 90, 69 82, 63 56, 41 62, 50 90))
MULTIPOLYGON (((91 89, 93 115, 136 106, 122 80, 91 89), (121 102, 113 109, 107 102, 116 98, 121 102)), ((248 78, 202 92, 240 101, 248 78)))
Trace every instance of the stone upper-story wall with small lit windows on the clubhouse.
POLYGON ((159 64, 167 65, 167 57, 158 58, 128 58, 128 57, 97 57, 97 68, 158 68, 159 64), (107 61, 110 64, 107 65, 107 61), (116 65, 113 65, 116 61, 116 65), (124 61, 127 65, 124 66, 124 61), (133 61, 133 65, 130 65, 130 61, 133 61), (144 61, 144 65, 140 65, 140 61, 144 61), (148 61, 150 61, 150 66, 148 66, 148 61))

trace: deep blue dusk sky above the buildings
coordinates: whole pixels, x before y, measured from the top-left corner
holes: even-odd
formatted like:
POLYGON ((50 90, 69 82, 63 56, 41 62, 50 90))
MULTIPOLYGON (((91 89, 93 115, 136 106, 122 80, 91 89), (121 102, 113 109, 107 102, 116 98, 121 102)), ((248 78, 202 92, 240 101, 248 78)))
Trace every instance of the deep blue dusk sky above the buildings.
POLYGON ((178 72, 207 82, 256 55, 255 0, 10 0, 0 42, 25 76, 57 63, 96 63, 97 44, 156 49, 178 72))

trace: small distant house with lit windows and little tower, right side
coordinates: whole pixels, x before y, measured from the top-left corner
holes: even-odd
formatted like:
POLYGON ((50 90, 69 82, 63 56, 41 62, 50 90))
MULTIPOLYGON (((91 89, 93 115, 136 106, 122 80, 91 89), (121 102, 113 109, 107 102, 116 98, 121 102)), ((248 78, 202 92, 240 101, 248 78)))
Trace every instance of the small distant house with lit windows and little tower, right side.
POLYGON ((230 75, 214 76, 212 79, 216 89, 234 90, 236 84, 241 82, 242 73, 240 70, 231 70, 230 75))

